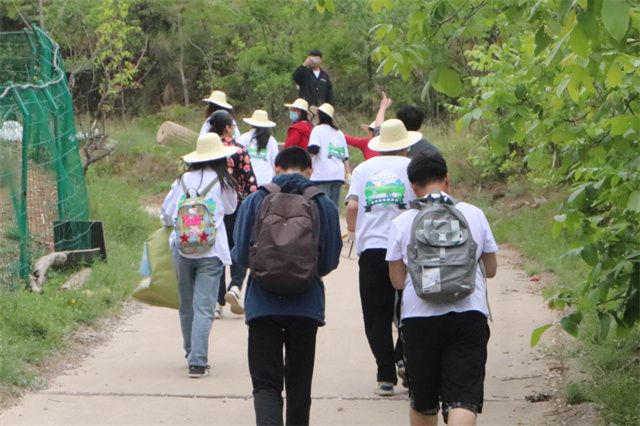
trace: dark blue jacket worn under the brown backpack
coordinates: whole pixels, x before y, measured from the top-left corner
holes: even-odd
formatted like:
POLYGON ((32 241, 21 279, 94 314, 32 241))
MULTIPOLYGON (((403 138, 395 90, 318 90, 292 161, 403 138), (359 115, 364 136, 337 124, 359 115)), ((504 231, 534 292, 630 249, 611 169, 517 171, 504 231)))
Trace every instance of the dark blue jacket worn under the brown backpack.
MULTIPOLYGON (((273 178, 273 183, 279 185, 282 192, 299 194, 312 185, 299 173, 278 175, 273 178)), ((231 252, 231 257, 241 265, 249 266, 249 248, 253 244, 252 233, 255 218, 267 195, 264 189, 254 192, 244 200, 238 210, 233 232, 235 247, 231 252)), ((342 236, 340 235, 338 209, 335 204, 325 195, 315 197, 315 201, 320 218, 320 258, 318 259, 317 285, 305 293, 282 296, 264 290, 259 285, 253 285, 251 274, 249 274, 244 300, 246 323, 259 317, 284 315, 307 317, 324 325, 325 295, 321 277, 338 267, 342 250, 342 236)))

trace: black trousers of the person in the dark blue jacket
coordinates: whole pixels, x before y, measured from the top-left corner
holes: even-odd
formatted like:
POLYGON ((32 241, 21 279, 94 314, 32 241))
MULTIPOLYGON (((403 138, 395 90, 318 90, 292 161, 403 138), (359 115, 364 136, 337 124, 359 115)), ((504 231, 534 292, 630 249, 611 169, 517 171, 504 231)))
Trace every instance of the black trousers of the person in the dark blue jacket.
POLYGON ((257 425, 283 424, 283 384, 286 424, 309 424, 318 325, 297 316, 268 316, 249 322, 249 373, 257 425))

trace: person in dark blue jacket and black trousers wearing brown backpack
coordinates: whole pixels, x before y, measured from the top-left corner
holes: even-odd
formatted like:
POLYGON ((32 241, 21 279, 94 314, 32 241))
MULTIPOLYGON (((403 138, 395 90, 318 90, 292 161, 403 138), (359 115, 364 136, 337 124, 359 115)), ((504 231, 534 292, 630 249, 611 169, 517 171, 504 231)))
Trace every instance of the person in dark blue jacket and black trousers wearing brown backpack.
MULTIPOLYGON (((318 247, 309 244, 305 250, 298 250, 305 259, 293 259, 302 263, 318 253, 317 268, 308 280, 309 286, 303 291, 294 289, 292 291, 298 292, 289 294, 267 290, 268 282, 272 286, 288 287, 294 286, 298 279, 291 272, 290 277, 276 280, 275 283, 267 280, 268 273, 263 268, 282 264, 286 259, 277 254, 272 259, 268 255, 258 259, 250 254, 260 250, 256 243, 262 238, 265 227, 275 226, 266 219, 256 224, 256 218, 264 213, 263 203, 268 208, 273 206, 271 199, 267 201, 269 204, 265 202, 270 193, 278 193, 273 187, 260 187, 242 203, 234 231, 236 245, 232 256, 243 265, 252 265, 245 296, 245 322, 249 326, 249 372, 253 383, 256 424, 283 424, 284 385, 287 394, 286 424, 308 425, 316 333, 318 327, 325 324, 325 294, 321 277, 338 266, 342 238, 335 204, 318 192, 308 179, 312 171, 309 154, 300 147, 286 148, 276 157, 275 169, 276 176, 272 184, 279 187, 280 193, 309 195, 315 192, 309 204, 314 203, 317 208, 319 229, 318 237, 314 239, 318 240, 318 247)), ((289 222, 290 227, 299 226, 293 219, 289 222)))

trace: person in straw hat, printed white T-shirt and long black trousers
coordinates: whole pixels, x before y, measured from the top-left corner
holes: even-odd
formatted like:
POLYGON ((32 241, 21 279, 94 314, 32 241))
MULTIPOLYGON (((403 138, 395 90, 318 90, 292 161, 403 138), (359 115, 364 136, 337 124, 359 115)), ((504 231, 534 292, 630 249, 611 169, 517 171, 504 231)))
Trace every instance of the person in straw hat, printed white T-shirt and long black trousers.
MULTIPOLYGON (((375 392, 380 396, 392 396, 398 382, 393 344, 396 291, 385 261, 387 237, 391 221, 415 198, 407 177, 410 160, 406 155, 421 138, 418 132, 407 132, 400 120, 382 123, 380 136, 369 142, 369 148, 379 151, 380 156, 354 169, 347 196, 347 231, 349 239, 356 241, 360 257, 360 302, 365 334, 378 366, 375 392)), ((398 367, 402 376, 403 366, 398 367)))

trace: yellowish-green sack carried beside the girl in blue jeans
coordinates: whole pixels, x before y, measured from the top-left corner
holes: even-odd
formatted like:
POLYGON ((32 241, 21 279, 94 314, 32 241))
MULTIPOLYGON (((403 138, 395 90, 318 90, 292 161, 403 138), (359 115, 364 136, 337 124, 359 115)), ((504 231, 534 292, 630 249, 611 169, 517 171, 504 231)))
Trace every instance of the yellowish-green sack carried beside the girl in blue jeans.
POLYGON ((178 282, 169 248, 172 232, 173 228, 163 226, 149 236, 145 245, 151 276, 138 284, 133 297, 149 305, 178 309, 178 282))

